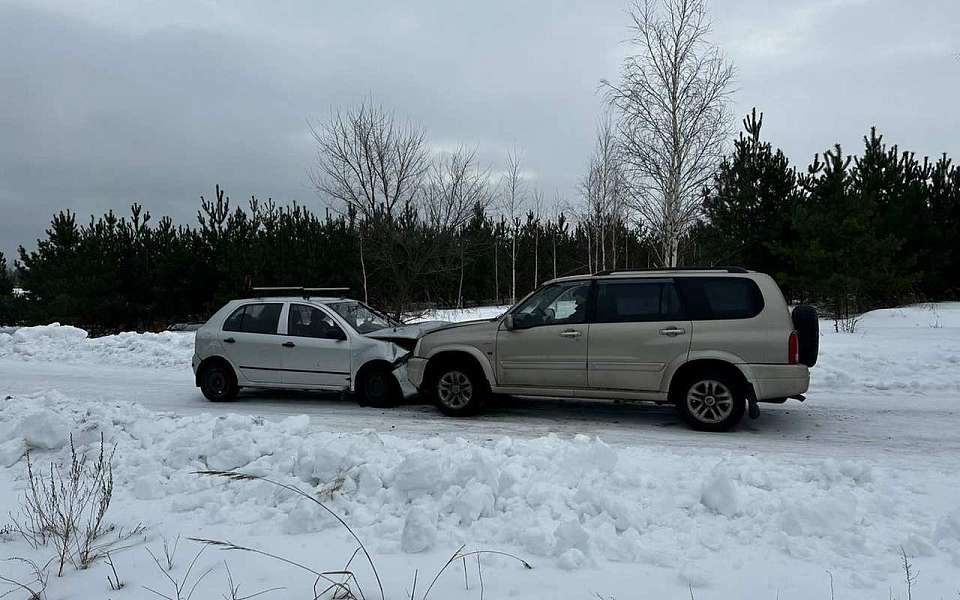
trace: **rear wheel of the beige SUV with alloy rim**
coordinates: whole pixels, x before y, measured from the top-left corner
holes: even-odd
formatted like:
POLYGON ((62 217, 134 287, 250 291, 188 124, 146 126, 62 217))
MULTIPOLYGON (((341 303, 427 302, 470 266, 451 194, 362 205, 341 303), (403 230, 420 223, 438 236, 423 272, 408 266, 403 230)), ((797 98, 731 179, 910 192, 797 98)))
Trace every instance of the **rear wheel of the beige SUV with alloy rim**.
POLYGON ((716 369, 687 378, 677 389, 675 403, 683 420, 697 431, 729 431, 743 419, 747 408, 740 382, 716 369))

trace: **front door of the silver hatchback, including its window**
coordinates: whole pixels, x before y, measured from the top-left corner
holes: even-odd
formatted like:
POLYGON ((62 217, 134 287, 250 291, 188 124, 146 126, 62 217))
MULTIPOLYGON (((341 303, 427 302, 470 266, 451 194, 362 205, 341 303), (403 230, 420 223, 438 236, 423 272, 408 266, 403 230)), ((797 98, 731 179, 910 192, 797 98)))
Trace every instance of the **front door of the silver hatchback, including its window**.
POLYGON ((323 309, 291 303, 283 336, 284 383, 342 389, 350 384, 350 341, 323 309))

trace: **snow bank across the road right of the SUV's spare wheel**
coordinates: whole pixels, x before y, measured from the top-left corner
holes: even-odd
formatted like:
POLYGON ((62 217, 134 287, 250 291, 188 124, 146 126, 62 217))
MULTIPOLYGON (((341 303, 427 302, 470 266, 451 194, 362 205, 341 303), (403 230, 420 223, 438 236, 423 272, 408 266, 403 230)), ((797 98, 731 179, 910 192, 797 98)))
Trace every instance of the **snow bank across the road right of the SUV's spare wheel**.
POLYGON ((820 322, 820 358, 811 393, 960 391, 960 303, 922 304, 864 314, 855 333, 820 322))

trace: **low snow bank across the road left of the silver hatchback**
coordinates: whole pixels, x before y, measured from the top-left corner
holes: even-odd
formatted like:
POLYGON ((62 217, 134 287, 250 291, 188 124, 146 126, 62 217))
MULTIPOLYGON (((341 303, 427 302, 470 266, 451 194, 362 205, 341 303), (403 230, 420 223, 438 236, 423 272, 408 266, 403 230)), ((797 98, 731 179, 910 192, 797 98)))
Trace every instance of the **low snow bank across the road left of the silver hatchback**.
POLYGON ((91 338, 83 329, 53 323, 0 332, 0 358, 134 367, 189 367, 193 333, 124 332, 91 338))

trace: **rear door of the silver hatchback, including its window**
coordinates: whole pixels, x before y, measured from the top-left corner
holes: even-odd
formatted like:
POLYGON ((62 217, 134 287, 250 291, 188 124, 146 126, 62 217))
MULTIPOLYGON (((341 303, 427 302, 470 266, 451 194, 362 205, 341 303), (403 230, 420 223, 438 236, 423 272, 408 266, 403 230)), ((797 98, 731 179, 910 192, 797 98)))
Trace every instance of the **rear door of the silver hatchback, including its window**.
POLYGON ((223 322, 224 353, 249 381, 283 383, 283 348, 277 329, 282 310, 282 302, 244 304, 223 322))

